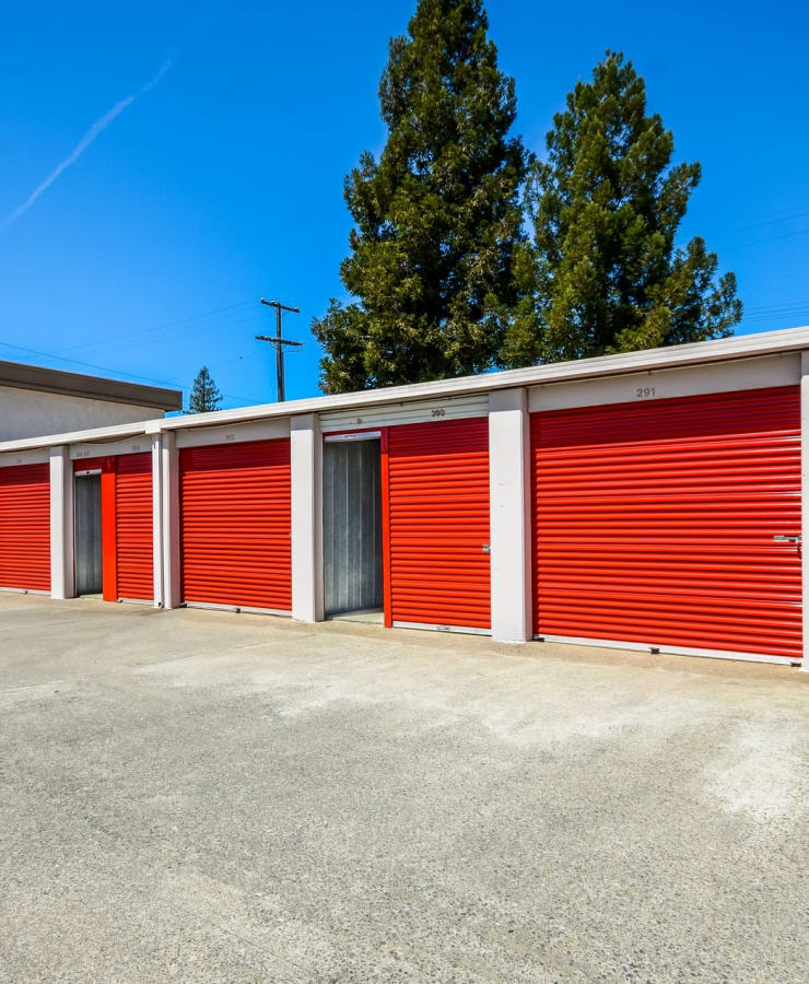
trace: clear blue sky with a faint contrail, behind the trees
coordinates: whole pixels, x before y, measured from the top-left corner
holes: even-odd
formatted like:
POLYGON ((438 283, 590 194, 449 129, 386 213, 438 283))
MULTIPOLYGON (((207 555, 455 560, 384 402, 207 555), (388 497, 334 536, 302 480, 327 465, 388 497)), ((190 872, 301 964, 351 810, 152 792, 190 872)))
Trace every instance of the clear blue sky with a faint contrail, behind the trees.
MULTIPOLYGON (((207 363, 224 406, 266 401, 263 295, 301 307, 285 321, 306 342, 288 358, 288 397, 316 394, 309 323, 342 296, 342 179, 384 143, 377 84, 413 7, 3 4, 0 359, 186 390, 207 363)), ((542 152, 553 113, 605 48, 624 50, 676 159, 702 162, 682 237, 704 235, 736 272, 740 330, 809 324, 806 4, 488 9, 529 148, 542 152)))

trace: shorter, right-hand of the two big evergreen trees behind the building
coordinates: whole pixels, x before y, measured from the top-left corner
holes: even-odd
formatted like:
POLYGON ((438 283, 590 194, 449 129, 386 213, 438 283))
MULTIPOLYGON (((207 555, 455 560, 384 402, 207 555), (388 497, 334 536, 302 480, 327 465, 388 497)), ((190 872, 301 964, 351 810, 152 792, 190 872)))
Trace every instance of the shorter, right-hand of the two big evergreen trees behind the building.
POLYGON ((696 236, 675 245, 699 164, 671 166, 673 137, 646 115, 631 61, 607 52, 578 82, 529 177, 536 265, 509 327, 506 365, 723 338, 741 318, 736 278, 696 236), (534 300, 527 300, 530 295, 534 300))

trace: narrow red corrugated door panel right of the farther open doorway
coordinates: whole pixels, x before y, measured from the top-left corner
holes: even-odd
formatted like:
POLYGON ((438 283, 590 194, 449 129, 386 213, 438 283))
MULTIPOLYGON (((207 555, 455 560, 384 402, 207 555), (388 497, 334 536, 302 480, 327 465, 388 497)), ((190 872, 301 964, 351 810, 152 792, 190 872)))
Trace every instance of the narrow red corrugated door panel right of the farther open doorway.
POLYGON ((115 483, 117 596, 154 597, 152 530, 152 456, 149 452, 117 459, 115 483))

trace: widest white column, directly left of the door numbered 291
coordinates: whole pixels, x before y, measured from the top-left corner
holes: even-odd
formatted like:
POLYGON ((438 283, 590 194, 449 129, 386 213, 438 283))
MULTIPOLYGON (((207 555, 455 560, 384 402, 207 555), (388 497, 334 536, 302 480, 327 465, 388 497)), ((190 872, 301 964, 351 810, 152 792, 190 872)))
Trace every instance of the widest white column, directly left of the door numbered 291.
POLYGON ((489 395, 492 639, 532 637, 530 420, 525 389, 489 395))

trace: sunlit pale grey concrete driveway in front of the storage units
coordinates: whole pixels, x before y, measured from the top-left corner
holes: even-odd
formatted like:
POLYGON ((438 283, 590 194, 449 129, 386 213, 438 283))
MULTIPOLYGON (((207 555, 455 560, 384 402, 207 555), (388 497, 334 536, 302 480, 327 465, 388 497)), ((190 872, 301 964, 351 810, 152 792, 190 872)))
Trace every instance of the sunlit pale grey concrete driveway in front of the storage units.
POLYGON ((0 980, 804 981, 807 683, 0 595, 0 980))

